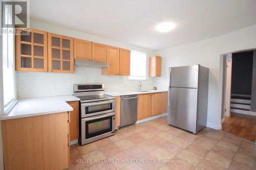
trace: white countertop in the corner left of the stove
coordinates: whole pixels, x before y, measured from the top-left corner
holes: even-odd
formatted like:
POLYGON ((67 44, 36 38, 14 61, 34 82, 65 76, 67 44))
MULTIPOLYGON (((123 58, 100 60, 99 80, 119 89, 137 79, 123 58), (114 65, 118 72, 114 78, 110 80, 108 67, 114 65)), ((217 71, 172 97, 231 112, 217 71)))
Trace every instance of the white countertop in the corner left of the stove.
POLYGON ((0 120, 72 111, 73 108, 66 103, 71 101, 79 99, 74 95, 19 99, 10 113, 1 115, 0 120))

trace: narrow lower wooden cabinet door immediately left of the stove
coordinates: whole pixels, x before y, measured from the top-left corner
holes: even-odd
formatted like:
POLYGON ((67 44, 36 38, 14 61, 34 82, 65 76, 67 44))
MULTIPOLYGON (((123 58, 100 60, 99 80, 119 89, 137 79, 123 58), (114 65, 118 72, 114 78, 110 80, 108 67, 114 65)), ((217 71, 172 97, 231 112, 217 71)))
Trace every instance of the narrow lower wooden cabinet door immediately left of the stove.
POLYGON ((69 120, 69 131, 70 131, 70 140, 78 139, 78 102, 67 102, 72 108, 73 111, 70 111, 70 120, 69 120))

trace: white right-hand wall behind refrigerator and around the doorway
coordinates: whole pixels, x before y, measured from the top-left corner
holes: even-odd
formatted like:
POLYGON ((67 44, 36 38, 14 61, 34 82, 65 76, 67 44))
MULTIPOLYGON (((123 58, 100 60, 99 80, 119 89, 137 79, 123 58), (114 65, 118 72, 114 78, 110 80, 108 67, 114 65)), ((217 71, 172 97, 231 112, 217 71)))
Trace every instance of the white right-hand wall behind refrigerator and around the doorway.
POLYGON ((221 128, 222 64, 221 54, 256 47, 256 25, 190 44, 155 52, 162 57, 162 76, 155 79, 158 88, 168 87, 168 67, 201 64, 209 70, 207 126, 221 128))

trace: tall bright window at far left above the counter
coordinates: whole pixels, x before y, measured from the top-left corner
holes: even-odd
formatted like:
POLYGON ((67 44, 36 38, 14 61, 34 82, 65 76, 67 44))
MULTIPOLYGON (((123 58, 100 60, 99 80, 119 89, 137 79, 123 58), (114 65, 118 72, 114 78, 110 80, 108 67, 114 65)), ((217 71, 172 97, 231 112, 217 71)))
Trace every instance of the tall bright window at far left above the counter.
MULTIPOLYGON (((11 14, 8 13, 8 19, 11 14)), ((4 111, 8 113, 16 103, 14 86, 14 36, 12 33, 2 35, 3 58, 3 94, 4 111)))

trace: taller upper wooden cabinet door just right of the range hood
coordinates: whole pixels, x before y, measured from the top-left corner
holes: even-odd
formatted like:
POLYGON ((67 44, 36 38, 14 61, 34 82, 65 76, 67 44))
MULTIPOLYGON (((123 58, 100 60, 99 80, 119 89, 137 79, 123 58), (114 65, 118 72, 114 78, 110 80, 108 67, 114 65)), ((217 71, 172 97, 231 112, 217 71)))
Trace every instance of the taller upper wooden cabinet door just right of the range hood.
POLYGON ((107 75, 119 75, 119 48, 108 46, 107 61, 109 67, 106 68, 107 75))

